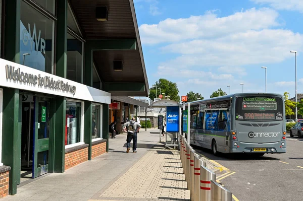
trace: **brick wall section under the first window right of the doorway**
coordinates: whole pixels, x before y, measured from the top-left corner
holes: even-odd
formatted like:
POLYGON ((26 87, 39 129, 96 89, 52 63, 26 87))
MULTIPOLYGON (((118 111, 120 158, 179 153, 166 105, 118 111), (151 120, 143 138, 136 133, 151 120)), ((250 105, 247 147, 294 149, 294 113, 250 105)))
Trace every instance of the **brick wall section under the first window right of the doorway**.
POLYGON ((65 150, 65 170, 88 160, 88 145, 65 150), (77 149, 77 150, 75 150, 77 149))

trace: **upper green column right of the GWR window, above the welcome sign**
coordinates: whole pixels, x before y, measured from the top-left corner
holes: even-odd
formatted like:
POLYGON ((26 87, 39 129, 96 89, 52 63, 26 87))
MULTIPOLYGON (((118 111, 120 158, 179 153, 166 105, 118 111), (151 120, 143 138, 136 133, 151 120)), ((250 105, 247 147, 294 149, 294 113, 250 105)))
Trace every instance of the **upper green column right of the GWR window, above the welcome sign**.
POLYGON ((67 1, 57 1, 56 75, 62 78, 67 69, 67 1))

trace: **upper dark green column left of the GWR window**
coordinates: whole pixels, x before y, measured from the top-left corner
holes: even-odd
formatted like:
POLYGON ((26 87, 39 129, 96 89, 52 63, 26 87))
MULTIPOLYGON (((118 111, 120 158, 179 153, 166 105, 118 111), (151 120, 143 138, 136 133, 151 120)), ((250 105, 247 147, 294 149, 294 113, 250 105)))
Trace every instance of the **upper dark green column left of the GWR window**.
POLYGON ((20 63, 21 0, 6 1, 4 9, 4 59, 20 63))

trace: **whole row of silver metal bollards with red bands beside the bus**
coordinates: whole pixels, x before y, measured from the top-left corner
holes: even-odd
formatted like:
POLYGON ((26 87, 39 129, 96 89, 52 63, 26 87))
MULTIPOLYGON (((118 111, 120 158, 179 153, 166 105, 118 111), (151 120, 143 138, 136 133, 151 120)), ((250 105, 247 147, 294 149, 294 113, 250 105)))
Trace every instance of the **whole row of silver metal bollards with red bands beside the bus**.
POLYGON ((216 174, 206 167, 206 161, 200 158, 182 135, 179 138, 180 158, 190 200, 232 201, 232 193, 216 182, 216 174))

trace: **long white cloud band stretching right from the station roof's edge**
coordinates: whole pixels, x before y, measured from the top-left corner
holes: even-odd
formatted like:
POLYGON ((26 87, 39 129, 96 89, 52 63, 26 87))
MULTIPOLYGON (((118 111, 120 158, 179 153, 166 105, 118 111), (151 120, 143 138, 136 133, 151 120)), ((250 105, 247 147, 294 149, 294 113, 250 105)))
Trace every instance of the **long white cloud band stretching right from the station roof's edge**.
POLYGON ((166 19, 159 24, 143 24, 139 27, 144 44, 179 42, 187 39, 215 38, 247 30, 261 30, 278 26, 278 13, 272 9, 249 9, 218 18, 213 12, 189 18, 166 19))

